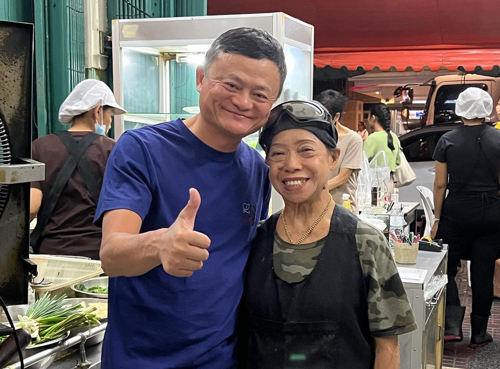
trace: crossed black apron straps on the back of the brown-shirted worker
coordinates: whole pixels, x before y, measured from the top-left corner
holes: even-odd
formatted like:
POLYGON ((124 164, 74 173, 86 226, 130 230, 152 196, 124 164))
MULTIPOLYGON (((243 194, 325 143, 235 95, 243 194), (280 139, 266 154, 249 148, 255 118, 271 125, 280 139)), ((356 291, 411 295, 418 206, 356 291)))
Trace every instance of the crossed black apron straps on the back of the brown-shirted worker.
POLYGON ((67 181, 73 174, 73 171, 78 167, 78 173, 83 178, 83 182, 92 197, 92 200, 97 204, 99 200, 100 187, 102 181, 99 173, 92 167, 90 161, 86 158, 85 151, 97 139, 100 134, 89 132, 85 134, 80 140, 73 138, 67 130, 61 130, 54 133, 57 135, 67 149, 67 158, 61 166, 61 169, 55 177, 55 181, 47 194, 43 194, 40 209, 36 218, 36 226, 31 233, 29 244, 33 253, 38 253, 41 242, 41 235, 45 226, 47 225, 55 204, 59 199, 62 190, 64 189, 67 181))

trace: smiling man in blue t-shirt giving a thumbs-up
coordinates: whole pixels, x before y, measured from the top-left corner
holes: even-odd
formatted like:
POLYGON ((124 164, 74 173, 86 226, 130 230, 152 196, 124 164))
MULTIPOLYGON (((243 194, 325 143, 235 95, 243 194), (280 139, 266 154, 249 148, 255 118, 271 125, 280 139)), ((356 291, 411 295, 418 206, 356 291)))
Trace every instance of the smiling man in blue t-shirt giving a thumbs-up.
POLYGON ((268 33, 227 31, 196 69, 200 113, 116 143, 95 215, 110 276, 103 369, 236 366, 243 269, 270 197, 267 166, 241 139, 285 76, 268 33))

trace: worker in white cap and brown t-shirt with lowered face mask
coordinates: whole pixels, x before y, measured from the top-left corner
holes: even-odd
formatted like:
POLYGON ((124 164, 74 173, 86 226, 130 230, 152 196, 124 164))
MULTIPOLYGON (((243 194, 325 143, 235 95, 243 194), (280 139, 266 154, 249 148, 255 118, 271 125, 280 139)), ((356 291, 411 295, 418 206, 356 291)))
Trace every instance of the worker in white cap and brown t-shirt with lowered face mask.
POLYGON ((101 229, 92 219, 115 143, 105 134, 112 116, 125 112, 104 82, 85 79, 59 108, 59 121, 69 129, 33 141, 32 158, 45 163, 45 179, 31 182, 33 252, 98 259, 101 229))

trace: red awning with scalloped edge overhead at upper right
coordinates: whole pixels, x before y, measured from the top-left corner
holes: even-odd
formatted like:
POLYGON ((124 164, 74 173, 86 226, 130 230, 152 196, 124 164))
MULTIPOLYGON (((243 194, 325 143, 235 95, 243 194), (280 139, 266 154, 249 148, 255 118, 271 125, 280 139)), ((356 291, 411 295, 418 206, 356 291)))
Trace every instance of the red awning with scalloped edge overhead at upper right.
POLYGON ((314 64, 472 70, 500 64, 492 0, 208 0, 209 15, 283 11, 314 25, 314 64))

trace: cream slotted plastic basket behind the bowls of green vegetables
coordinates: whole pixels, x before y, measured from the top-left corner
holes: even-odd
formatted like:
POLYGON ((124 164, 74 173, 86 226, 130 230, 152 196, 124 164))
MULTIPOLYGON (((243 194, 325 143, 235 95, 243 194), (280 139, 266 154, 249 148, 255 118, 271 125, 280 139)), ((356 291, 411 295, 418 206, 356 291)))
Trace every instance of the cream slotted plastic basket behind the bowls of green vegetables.
POLYGON ((43 285, 31 284, 37 297, 45 292, 49 292, 52 296, 66 294, 68 297, 74 297, 71 285, 103 273, 100 260, 39 254, 30 254, 29 258, 37 265, 38 270, 33 282, 43 283, 43 285))

